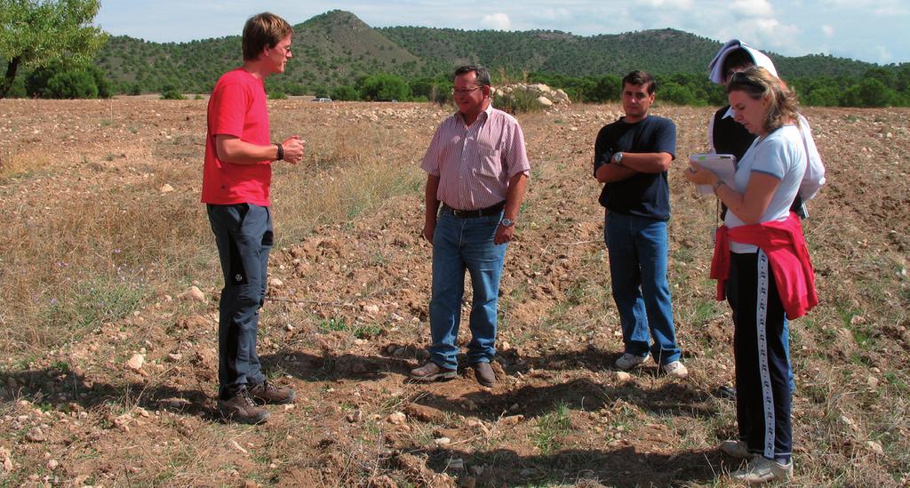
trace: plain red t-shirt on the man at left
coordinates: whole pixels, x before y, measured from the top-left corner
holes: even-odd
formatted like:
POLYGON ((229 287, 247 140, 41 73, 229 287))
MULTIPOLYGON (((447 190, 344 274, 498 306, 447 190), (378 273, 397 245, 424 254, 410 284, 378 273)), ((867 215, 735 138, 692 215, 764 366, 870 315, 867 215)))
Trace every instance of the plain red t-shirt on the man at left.
POLYGON ((240 165, 219 160, 215 150, 218 134, 237 136, 259 146, 270 144, 266 89, 261 79, 238 68, 221 76, 212 90, 208 99, 202 202, 216 205, 252 203, 268 207, 271 161, 240 165))

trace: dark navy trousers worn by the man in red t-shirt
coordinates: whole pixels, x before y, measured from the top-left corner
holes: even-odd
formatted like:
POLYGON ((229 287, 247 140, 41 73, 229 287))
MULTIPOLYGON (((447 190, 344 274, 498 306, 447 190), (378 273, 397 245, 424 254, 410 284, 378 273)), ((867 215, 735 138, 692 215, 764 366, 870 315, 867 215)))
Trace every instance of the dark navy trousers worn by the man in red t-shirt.
POLYGON ((268 207, 207 205, 225 287, 218 303, 218 397, 263 380, 256 353, 259 309, 266 297, 272 216, 268 207))

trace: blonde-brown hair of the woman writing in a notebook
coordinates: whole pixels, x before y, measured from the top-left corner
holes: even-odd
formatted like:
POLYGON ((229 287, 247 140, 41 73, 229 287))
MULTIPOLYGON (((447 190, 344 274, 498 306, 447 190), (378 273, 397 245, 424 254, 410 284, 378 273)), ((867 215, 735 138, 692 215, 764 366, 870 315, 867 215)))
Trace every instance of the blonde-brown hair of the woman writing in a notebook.
POLYGON ((771 103, 764 115, 764 130, 771 132, 786 123, 799 124, 799 101, 794 92, 777 76, 761 66, 734 73, 727 84, 727 94, 742 91, 753 100, 767 98, 771 103))

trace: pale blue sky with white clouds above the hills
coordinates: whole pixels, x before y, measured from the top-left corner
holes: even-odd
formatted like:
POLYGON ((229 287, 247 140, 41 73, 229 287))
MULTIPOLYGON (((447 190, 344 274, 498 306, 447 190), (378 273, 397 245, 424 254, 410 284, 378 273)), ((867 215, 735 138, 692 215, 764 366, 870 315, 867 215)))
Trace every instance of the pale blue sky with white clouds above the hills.
POLYGON ((101 0, 95 24, 115 36, 186 42, 239 36, 247 18, 263 11, 296 25, 334 9, 372 27, 552 29, 579 36, 672 27, 720 42, 738 38, 784 56, 910 62, 910 0, 101 0))

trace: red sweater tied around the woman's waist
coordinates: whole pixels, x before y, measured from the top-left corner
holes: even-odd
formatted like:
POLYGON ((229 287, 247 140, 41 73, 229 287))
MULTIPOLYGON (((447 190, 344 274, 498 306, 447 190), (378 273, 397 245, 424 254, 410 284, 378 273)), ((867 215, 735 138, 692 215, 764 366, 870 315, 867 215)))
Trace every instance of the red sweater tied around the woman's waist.
POLYGON ((728 229, 717 228, 711 278, 717 280, 717 300, 725 300, 724 282, 730 274, 730 240, 752 244, 768 256, 777 293, 787 319, 794 320, 818 305, 815 274, 809 259, 809 248, 803 237, 803 225, 793 212, 782 222, 763 222, 728 229))

